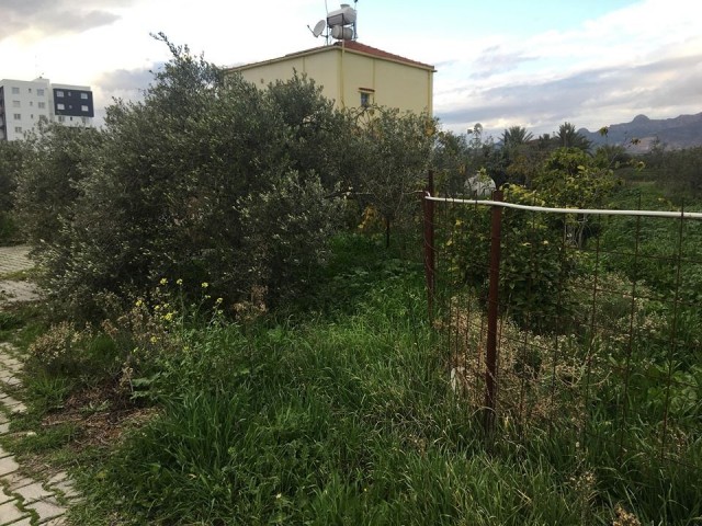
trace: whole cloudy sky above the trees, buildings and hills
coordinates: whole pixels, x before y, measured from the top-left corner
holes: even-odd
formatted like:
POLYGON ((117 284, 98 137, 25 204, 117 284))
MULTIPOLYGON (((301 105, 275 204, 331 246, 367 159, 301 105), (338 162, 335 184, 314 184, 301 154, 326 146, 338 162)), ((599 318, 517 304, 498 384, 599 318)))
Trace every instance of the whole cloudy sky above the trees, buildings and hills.
MULTIPOLYGON (((434 115, 456 133, 702 112, 699 0, 359 0, 359 42, 431 64, 434 115)), ((324 45, 332 0, 0 0, 0 79, 90 85, 98 122, 169 59, 162 32, 219 66, 324 45)))

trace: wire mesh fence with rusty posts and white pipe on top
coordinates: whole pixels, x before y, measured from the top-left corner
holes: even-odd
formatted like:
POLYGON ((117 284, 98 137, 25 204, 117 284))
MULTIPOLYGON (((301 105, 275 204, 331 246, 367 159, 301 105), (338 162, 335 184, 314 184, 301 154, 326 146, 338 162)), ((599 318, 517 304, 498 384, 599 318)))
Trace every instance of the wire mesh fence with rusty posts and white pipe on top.
POLYGON ((492 444, 565 438, 626 469, 702 479, 702 214, 430 190, 423 214, 451 386, 492 444), (570 214, 596 216, 582 239, 570 214))

